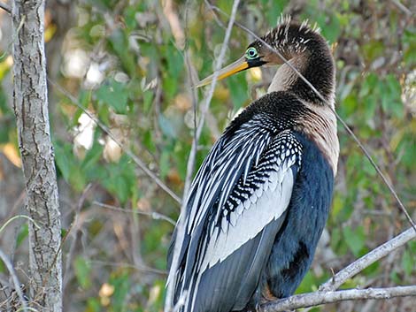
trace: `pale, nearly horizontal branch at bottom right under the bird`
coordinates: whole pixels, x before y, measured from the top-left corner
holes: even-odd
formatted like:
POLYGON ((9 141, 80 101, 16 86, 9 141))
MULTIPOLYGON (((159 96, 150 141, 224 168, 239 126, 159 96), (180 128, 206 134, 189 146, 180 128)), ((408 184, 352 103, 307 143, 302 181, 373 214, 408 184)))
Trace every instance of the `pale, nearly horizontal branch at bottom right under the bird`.
POLYGON ((395 297, 416 296, 416 285, 386 288, 349 289, 337 292, 314 292, 291 296, 279 301, 266 303, 261 312, 280 312, 296 308, 316 307, 321 304, 339 301, 391 299, 395 297))

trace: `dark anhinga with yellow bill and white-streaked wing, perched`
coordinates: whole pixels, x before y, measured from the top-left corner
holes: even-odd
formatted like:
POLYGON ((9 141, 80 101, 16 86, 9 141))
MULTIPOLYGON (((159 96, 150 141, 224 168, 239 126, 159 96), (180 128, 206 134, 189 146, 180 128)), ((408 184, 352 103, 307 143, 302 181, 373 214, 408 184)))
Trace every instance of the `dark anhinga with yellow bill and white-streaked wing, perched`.
POLYGON ((173 231, 167 284, 181 312, 254 311, 289 297, 327 222, 339 156, 331 49, 318 27, 284 17, 216 76, 262 65, 279 66, 266 94, 215 142, 190 186, 183 237, 173 231))

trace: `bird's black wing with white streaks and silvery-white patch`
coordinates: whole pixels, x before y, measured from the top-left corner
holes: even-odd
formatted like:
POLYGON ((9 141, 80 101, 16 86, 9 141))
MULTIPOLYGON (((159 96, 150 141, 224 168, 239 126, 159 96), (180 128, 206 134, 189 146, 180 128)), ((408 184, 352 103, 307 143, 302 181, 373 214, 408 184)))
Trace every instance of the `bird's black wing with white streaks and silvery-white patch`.
MULTIPOLYGON (((257 116, 224 133, 192 185, 179 242, 175 299, 183 311, 229 311, 250 300, 289 205, 301 147, 257 116)), ((174 242, 174 238, 173 238, 174 242)), ((168 255, 171 262, 172 248, 168 255)))

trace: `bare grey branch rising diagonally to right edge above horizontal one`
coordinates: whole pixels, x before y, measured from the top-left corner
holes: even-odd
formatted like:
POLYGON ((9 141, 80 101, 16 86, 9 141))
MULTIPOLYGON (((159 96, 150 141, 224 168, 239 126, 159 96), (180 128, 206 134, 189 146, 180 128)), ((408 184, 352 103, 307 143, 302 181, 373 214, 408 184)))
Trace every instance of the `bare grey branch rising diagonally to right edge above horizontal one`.
POLYGON ((379 247, 376 247, 374 250, 370 251, 368 254, 363 255, 357 261, 351 263, 345 269, 340 270, 335 276, 329 279, 325 284, 320 286, 320 291, 330 291, 337 289, 340 285, 348 279, 356 275, 358 272, 366 269, 369 265, 375 263, 377 260, 380 260, 382 257, 389 255, 393 250, 396 250, 398 247, 403 246, 409 240, 416 238, 416 232, 413 228, 409 228, 406 231, 402 232, 400 235, 397 235, 395 238, 385 242, 379 247))

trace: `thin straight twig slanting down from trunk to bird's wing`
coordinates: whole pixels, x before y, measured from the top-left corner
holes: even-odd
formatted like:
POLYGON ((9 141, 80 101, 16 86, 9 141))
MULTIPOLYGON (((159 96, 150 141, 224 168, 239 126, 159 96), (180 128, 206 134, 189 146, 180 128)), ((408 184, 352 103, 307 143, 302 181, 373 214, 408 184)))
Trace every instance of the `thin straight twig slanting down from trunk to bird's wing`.
POLYGON ((142 159, 140 159, 138 156, 135 156, 135 154, 133 154, 133 152, 129 148, 127 148, 123 143, 121 143, 114 136, 114 134, 112 134, 111 130, 101 122, 101 120, 96 118, 85 107, 83 107, 81 103, 79 103, 77 99, 73 97, 73 95, 71 95, 68 91, 65 90, 65 88, 59 86, 58 83, 56 83, 55 81, 52 81, 50 79, 48 79, 48 81, 50 82, 50 85, 56 88, 61 94, 65 95, 73 104, 75 104, 85 114, 87 114, 88 117, 91 118, 96 123, 96 125, 99 126, 100 129, 103 130, 104 133, 106 133, 112 139, 112 141, 115 141, 119 148, 121 148, 123 152, 125 152, 127 156, 129 156, 135 162, 135 164, 137 164, 137 166, 144 171, 144 173, 146 173, 151 179, 153 179, 161 189, 163 189, 167 194, 169 194, 175 202, 181 204, 181 198, 177 194, 174 194, 173 190, 171 190, 169 186, 166 186, 166 184, 161 179, 158 179, 158 176, 153 171, 151 171, 146 166, 146 164, 143 163, 142 159))

